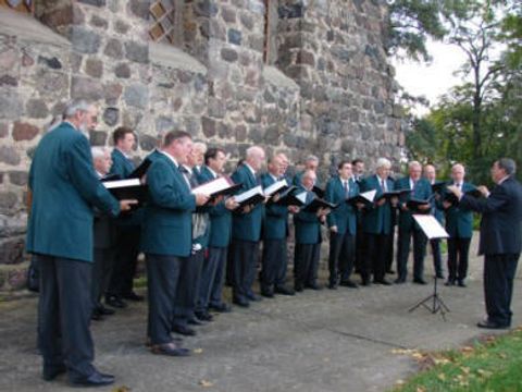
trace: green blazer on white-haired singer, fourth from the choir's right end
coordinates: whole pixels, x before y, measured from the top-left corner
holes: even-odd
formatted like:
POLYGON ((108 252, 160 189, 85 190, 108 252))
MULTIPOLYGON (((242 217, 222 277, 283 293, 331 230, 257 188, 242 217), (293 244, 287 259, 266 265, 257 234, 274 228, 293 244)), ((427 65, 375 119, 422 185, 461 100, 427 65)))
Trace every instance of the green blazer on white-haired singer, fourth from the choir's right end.
MULTIPOLYGON (((363 179, 360 183, 360 192, 376 191, 375 200, 383 194, 381 182, 377 175, 363 179)), ((394 191, 394 181, 386 179, 386 187, 394 191)), ((369 234, 389 234, 393 229, 391 205, 389 201, 382 206, 373 204, 363 209, 362 231, 369 234)))

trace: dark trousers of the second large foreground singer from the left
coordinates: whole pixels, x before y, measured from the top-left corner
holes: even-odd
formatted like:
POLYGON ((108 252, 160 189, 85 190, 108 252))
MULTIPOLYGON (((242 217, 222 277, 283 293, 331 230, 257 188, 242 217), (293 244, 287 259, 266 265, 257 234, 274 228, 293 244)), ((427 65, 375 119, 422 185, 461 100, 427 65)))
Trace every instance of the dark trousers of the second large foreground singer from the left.
POLYGON ((146 255, 149 298, 148 335, 152 344, 172 342, 172 319, 182 259, 176 256, 146 255))

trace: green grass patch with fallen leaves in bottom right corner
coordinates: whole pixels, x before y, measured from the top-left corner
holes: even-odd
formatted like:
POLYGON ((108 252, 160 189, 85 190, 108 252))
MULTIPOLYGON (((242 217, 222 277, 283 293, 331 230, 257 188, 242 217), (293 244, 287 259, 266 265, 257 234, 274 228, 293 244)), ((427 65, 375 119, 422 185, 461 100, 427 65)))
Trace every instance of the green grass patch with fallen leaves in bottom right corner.
POLYGON ((522 391, 522 329, 459 351, 413 356, 426 370, 396 387, 395 392, 522 391))

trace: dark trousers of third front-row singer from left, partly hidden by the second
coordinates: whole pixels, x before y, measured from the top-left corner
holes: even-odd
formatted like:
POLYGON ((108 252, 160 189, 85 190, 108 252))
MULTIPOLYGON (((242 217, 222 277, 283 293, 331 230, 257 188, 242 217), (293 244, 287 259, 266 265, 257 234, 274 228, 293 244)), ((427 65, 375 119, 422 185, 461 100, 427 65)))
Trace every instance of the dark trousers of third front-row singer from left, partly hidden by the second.
POLYGON ((189 257, 182 258, 179 283, 174 302, 173 326, 186 326, 188 320, 195 318, 203 260, 204 250, 202 249, 189 257))

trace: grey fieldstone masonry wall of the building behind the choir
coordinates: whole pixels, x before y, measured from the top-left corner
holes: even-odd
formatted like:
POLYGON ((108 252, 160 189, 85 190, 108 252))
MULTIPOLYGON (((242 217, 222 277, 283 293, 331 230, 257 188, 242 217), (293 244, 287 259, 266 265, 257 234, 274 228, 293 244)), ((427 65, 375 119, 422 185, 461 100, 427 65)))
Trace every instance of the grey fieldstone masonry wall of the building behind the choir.
POLYGON ((149 39, 150 1, 0 8, 0 291, 24 284, 30 156, 71 98, 100 107, 94 145, 135 128, 137 158, 172 128, 225 148, 231 168, 253 143, 295 163, 313 152, 321 175, 345 157, 398 157, 384 1, 173 4, 175 46, 149 39))

